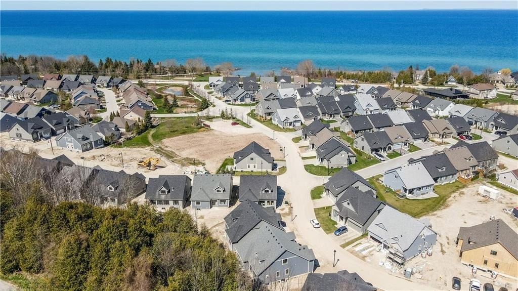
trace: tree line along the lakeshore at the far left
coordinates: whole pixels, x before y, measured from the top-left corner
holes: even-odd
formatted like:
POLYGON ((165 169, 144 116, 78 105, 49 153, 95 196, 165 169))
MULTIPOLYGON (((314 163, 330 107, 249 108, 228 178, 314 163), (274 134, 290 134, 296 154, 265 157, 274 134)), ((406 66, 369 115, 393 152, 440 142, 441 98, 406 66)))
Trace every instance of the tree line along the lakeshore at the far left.
POLYGON ((78 74, 78 75, 106 75, 122 78, 141 78, 151 74, 195 74, 210 71, 210 67, 197 57, 188 59, 184 64, 175 60, 153 62, 131 59, 129 62, 112 60, 106 57, 97 64, 87 55, 71 55, 66 60, 56 59, 53 56, 19 55, 18 58, 2 54, 0 58, 0 74, 78 74))

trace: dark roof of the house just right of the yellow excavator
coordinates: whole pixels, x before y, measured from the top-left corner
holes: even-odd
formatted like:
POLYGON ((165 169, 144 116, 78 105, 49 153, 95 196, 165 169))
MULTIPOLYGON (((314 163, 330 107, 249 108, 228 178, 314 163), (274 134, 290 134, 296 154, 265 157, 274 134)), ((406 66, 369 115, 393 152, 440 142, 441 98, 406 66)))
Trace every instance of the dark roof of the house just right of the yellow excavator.
POLYGON ((191 178, 185 175, 160 175, 158 178, 149 178, 146 189, 146 200, 185 200, 191 191, 186 187, 191 178), (166 194, 159 191, 164 188, 166 194))

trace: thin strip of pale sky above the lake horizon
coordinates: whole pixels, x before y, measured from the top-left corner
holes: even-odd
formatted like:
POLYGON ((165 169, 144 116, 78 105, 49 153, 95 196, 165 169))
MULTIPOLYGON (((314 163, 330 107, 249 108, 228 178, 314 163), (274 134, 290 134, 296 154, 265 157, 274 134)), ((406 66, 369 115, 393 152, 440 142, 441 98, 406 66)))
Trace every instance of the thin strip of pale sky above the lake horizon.
POLYGON ((419 10, 518 9, 517 1, 2 1, 2 10, 419 10))

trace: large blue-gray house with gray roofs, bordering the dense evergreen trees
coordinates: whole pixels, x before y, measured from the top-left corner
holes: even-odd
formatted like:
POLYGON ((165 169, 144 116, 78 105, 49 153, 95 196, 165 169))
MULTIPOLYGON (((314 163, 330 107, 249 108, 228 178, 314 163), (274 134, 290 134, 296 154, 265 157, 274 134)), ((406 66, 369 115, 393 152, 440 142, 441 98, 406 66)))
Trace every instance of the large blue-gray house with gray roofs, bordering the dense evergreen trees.
POLYGON ((273 208, 262 209, 247 200, 224 221, 229 248, 254 280, 270 284, 313 272, 313 251, 298 244, 293 232, 284 231, 273 208))

